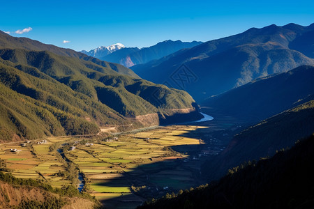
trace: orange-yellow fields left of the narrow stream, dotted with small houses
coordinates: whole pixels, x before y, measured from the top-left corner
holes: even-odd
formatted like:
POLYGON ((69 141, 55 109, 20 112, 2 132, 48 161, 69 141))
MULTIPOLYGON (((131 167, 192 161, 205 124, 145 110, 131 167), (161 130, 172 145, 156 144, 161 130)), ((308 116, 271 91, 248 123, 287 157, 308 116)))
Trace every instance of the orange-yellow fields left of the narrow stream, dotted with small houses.
POLYGON ((21 143, 0 144, 0 158, 6 160, 7 167, 13 170, 13 176, 17 178, 44 178, 53 187, 68 185, 70 183, 68 180, 54 176, 54 173, 64 171, 66 167, 59 160, 57 151, 49 150, 52 144, 68 139, 51 137, 46 140, 45 144, 36 144, 37 141, 32 141, 26 147, 20 146, 21 143), (20 151, 15 153, 10 149, 20 151))

